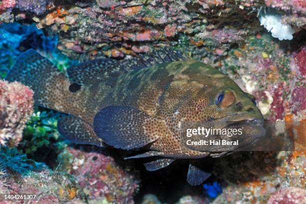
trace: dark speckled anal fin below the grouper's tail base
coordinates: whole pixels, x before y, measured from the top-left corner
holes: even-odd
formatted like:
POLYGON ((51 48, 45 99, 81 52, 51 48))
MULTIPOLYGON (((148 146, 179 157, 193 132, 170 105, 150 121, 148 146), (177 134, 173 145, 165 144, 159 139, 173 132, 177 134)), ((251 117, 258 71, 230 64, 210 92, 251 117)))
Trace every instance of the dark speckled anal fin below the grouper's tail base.
POLYGON ((74 115, 67 115, 57 122, 58 132, 72 142, 103 146, 104 142, 97 137, 90 124, 74 115))

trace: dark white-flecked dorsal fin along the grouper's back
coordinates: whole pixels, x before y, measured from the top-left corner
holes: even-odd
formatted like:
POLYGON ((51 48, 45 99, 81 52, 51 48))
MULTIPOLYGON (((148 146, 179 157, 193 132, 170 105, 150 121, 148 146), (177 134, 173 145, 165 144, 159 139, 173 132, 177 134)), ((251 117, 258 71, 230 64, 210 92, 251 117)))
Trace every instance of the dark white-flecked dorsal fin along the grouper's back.
POLYGON ((186 59, 186 56, 176 50, 160 48, 150 53, 121 61, 109 58, 85 61, 69 67, 67 73, 72 82, 90 86, 109 79, 116 81, 117 76, 130 70, 186 59))

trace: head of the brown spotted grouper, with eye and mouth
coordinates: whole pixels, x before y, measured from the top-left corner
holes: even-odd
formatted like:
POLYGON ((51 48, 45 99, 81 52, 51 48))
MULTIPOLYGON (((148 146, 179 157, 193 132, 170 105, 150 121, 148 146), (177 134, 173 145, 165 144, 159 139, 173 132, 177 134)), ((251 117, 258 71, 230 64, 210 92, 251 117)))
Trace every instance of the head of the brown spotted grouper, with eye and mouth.
POLYGON ((180 114, 175 115, 180 117, 177 126, 181 136, 186 135, 187 128, 225 129, 226 132, 242 129, 241 134, 235 135, 216 131, 208 136, 193 136, 194 140, 208 138, 235 141, 238 139, 237 146, 229 144, 192 146, 191 148, 211 152, 233 151, 253 144, 264 135, 263 116, 255 97, 244 92, 231 78, 200 62, 191 65, 182 73, 187 75, 183 83, 186 89, 185 99, 180 103, 179 108, 176 108, 176 113, 180 114))

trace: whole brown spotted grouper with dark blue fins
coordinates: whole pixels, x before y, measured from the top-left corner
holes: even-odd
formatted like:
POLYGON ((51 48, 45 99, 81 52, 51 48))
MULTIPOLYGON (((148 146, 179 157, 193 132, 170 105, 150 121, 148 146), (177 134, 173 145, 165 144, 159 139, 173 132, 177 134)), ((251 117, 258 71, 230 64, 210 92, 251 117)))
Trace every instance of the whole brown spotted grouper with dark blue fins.
POLYGON ((167 48, 121 61, 85 61, 69 67, 67 74, 29 49, 5 79, 30 86, 35 104, 66 113, 57 124, 64 138, 146 150, 128 158, 156 157, 144 163, 151 171, 189 159, 187 181, 192 185, 210 175, 198 165, 199 158, 226 155, 263 135, 254 96, 217 69, 167 48), (239 139, 239 146, 187 145, 185 130, 196 126, 243 126, 245 131, 231 137, 211 135, 239 139))

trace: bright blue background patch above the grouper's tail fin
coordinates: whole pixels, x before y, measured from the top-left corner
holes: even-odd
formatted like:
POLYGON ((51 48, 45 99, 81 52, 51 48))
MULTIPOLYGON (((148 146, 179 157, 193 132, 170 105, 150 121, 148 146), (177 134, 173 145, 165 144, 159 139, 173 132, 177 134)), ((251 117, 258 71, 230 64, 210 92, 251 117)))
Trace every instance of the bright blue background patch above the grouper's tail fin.
POLYGON ((76 63, 55 48, 56 42, 56 36, 44 35, 34 24, 0 24, 0 78, 5 77, 17 56, 29 48, 36 49, 41 55, 48 57, 60 70, 76 63))

